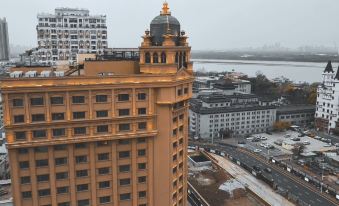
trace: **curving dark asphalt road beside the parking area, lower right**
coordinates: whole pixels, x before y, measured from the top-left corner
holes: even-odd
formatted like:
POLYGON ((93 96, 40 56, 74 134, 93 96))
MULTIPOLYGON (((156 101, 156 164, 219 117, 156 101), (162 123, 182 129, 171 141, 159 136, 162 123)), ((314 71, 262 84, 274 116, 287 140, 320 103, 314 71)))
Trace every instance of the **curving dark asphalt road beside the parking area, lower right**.
POLYGON ((240 160, 241 162, 250 166, 257 165, 261 169, 264 169, 266 167, 271 168, 274 182, 285 190, 291 192, 293 195, 297 196, 298 199, 301 199, 308 205, 339 205, 339 202, 336 202, 336 200, 330 198, 328 195, 320 194, 319 190, 311 185, 308 185, 308 183, 306 183, 302 179, 295 177, 294 175, 288 173, 287 171, 284 171, 276 165, 272 165, 266 162, 265 160, 259 158, 254 154, 227 146, 212 146, 210 148, 224 151, 226 154, 229 154, 237 160, 240 160))

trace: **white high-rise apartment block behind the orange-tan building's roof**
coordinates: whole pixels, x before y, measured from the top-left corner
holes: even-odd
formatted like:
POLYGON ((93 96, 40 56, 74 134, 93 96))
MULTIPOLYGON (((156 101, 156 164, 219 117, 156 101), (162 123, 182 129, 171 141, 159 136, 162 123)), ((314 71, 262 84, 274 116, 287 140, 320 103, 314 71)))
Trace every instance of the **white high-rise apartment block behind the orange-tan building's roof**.
POLYGON ((90 15, 87 9, 56 8, 54 14, 38 14, 37 17, 35 62, 73 63, 78 53, 101 54, 107 48, 106 15, 90 15))

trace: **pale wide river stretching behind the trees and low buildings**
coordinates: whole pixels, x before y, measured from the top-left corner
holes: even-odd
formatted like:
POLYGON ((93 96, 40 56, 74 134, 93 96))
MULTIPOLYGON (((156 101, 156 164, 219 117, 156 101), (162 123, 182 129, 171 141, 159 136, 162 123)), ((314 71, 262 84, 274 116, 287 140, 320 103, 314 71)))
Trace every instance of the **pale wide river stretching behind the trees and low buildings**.
MULTIPOLYGON (((284 76, 296 83, 299 82, 321 82, 321 74, 327 62, 286 62, 286 61, 240 61, 240 60, 213 60, 193 59, 194 70, 204 71, 236 71, 252 77, 258 71, 262 72, 269 79, 284 76)), ((337 63, 333 63, 336 71, 337 63)))

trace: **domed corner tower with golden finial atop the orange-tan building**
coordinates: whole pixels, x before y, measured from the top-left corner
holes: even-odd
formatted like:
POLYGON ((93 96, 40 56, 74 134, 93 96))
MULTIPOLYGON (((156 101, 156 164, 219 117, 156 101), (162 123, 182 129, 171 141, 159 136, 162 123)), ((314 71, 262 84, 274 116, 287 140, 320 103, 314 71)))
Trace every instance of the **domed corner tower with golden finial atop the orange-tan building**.
POLYGON ((180 30, 179 21, 171 15, 167 2, 142 38, 139 47, 141 73, 176 73, 180 69, 192 72, 188 37, 180 30))

